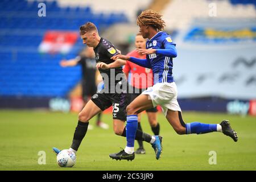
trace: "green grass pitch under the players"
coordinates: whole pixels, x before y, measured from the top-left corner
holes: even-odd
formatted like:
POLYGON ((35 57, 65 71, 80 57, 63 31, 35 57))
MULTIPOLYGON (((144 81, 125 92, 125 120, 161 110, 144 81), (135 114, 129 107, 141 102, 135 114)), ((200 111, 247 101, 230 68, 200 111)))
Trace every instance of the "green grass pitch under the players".
MULTIPOLYGON (((113 133, 112 115, 102 115, 110 125, 103 130, 94 126, 89 130, 77 152, 77 162, 72 168, 57 165, 52 147, 69 148, 77 125, 76 113, 48 111, 0 110, 0 170, 255 170, 256 169, 256 118, 238 115, 183 112, 185 122, 220 123, 229 119, 238 133, 233 142, 222 133, 202 135, 177 135, 164 118, 158 114, 160 135, 163 136, 163 154, 155 159, 151 145, 144 143, 145 155, 136 155, 132 162, 116 161, 109 154, 125 147, 126 138, 113 133), (39 151, 46 152, 46 164, 38 164, 39 151), (217 164, 209 164, 210 151, 216 152, 217 164), (128 165, 127 165, 128 164, 128 165)), ((145 114, 143 131, 152 134, 145 114)), ((138 147, 135 142, 135 148, 138 147)))

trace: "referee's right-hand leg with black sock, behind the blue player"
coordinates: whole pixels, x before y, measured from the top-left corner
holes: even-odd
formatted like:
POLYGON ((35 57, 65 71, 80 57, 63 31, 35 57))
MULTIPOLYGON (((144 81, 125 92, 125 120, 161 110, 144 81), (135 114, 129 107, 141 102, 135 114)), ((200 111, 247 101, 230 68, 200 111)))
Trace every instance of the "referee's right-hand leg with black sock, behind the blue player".
POLYGON ((150 123, 151 130, 153 131, 154 135, 159 135, 160 132, 160 125, 156 120, 157 111, 158 109, 156 109, 156 107, 146 110, 148 122, 150 123))

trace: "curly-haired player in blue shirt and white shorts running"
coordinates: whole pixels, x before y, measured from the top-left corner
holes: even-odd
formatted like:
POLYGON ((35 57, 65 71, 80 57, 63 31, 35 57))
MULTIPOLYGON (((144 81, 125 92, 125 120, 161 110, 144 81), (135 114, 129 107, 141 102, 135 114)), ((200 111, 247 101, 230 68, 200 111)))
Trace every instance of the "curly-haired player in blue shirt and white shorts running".
MULTIPOLYGON (((204 134, 219 131, 237 142, 237 133, 232 129, 227 120, 222 121, 220 124, 200 122, 185 124, 177 102, 177 87, 172 76, 173 58, 177 56, 176 44, 172 42, 170 35, 162 31, 165 22, 159 13, 153 10, 142 11, 141 15, 138 16, 137 24, 143 38, 148 38, 146 49, 137 49, 137 52, 146 54, 146 59, 137 59, 125 55, 115 55, 112 59, 117 60, 115 61, 117 63, 114 62, 117 65, 125 64, 126 61, 123 60, 129 60, 142 67, 151 68, 154 73, 154 85, 142 92, 141 95, 126 107, 127 145, 124 150, 110 154, 110 158, 119 160, 129 159, 131 155, 134 155, 134 139, 138 126, 138 114, 157 105, 162 107, 163 114, 177 134, 204 134)), ((160 145, 152 145, 152 147, 155 150, 156 159, 159 159, 162 153, 162 137, 155 137, 160 145)))

